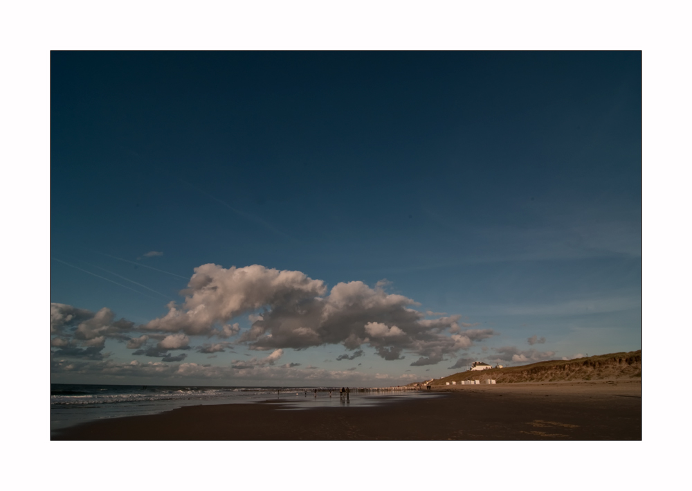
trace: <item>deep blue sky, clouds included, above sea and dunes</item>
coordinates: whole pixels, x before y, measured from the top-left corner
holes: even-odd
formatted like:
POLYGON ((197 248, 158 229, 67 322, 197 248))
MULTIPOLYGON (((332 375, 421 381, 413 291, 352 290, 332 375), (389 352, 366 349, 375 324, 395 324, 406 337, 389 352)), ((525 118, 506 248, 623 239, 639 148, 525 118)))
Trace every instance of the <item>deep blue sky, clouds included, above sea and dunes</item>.
POLYGON ((51 381, 641 349, 638 51, 51 53, 51 381))

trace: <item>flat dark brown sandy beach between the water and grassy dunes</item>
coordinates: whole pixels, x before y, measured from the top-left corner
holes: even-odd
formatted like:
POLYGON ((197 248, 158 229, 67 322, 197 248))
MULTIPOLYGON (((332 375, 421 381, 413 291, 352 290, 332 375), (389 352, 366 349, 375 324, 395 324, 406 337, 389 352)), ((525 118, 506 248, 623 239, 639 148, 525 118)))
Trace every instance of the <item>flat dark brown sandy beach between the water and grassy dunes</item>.
POLYGON ((641 440, 639 380, 446 386, 379 406, 288 407, 183 407, 87 422, 51 439, 641 440))

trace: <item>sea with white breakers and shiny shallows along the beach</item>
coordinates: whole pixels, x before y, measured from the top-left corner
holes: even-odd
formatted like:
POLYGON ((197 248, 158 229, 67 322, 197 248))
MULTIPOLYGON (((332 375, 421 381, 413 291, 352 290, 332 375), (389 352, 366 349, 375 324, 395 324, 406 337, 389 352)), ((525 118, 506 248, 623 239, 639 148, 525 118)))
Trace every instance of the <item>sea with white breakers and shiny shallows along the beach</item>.
POLYGON ((217 387, 163 385, 51 384, 51 432, 103 418, 163 413, 201 404, 252 404, 271 400, 280 410, 358 407, 421 395, 399 388, 350 389, 340 398, 333 387, 217 387), (330 392, 331 391, 331 392, 330 392))

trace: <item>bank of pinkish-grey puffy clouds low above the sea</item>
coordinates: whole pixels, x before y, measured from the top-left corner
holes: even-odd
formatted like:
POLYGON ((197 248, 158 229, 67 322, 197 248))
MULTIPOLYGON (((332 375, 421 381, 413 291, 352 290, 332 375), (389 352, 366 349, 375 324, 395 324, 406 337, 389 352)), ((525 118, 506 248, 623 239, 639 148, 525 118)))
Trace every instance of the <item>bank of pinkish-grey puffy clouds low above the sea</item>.
MULTIPOLYGON (((492 329, 470 329, 477 323, 462 323, 459 314, 419 312, 412 307, 420 303, 386 292, 386 285, 385 280, 374 287, 351 281, 338 283, 328 291, 322 280, 309 278, 301 271, 280 271, 262 265, 228 269, 201 265, 194 269, 188 287, 180 292, 184 301, 168 303, 166 314, 146 323, 116 320, 108 307, 94 313, 52 303, 53 357, 103 361, 109 356, 103 352, 105 341, 113 339, 134 350, 133 355, 160 357, 164 364, 183 361, 187 357, 183 351, 191 349, 206 354, 233 352, 233 346, 271 351, 268 357, 233 361, 230 368, 234 372, 269 368, 285 349, 306 350, 325 345, 342 345, 352 353, 340 355, 337 360, 355 359, 363 355, 361 348, 370 347, 386 361, 414 355, 410 366, 426 366, 439 364, 445 357, 457 357, 460 350, 466 351, 475 342, 498 335, 492 329), (249 328, 242 330, 239 323, 230 323, 244 315, 251 321, 249 328), (441 316, 426 319, 431 315, 441 316), (226 340, 233 337, 232 341, 226 340), (199 338, 219 341, 191 346, 199 338), (174 351, 179 354, 174 355, 174 351)), ((530 339, 529 343, 533 344, 532 341, 542 342, 530 339)), ((554 355, 536 350, 520 352, 516 348, 496 351, 498 357, 514 361, 536 361, 554 355)), ((462 366, 461 360, 465 364, 467 358, 450 368, 462 366)), ((55 369, 68 366, 67 363, 63 360, 55 369)), ((142 366, 137 362, 123 370, 142 366)), ((185 366, 186 373, 219 373, 218 367, 185 366)), ((293 366, 298 364, 280 368, 293 366)))

